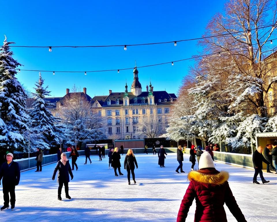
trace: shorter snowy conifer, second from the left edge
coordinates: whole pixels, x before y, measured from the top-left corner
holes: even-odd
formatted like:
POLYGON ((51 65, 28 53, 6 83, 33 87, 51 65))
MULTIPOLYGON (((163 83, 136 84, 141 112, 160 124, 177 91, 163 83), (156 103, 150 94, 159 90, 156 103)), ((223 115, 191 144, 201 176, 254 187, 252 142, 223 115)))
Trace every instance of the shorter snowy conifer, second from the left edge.
POLYGON ((30 112, 32 119, 30 130, 30 144, 35 150, 37 147, 42 149, 50 149, 60 143, 63 138, 64 128, 59 125, 60 119, 54 117, 48 110, 49 102, 45 100, 45 96, 50 95, 50 91, 43 88, 44 79, 40 74, 38 82, 36 82, 34 102, 30 112))

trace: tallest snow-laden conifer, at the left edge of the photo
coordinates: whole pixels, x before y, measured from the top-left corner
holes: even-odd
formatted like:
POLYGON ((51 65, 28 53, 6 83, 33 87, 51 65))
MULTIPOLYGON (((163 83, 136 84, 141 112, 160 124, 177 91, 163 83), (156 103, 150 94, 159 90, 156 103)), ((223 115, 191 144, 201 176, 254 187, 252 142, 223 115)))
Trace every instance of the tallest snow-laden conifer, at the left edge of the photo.
POLYGON ((25 112, 23 87, 18 82, 16 67, 21 66, 12 58, 9 45, 5 40, 0 49, 0 144, 8 151, 24 151, 26 139, 23 134, 28 130, 29 115, 25 112))

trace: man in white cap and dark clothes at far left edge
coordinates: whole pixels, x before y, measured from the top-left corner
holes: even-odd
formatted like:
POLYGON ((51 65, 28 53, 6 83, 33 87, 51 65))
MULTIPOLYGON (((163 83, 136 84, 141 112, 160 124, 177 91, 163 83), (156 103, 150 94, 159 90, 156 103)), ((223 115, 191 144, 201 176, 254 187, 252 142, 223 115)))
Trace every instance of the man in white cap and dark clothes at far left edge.
POLYGON ((18 185, 20 180, 20 170, 17 162, 12 160, 14 155, 12 153, 8 153, 6 156, 7 162, 2 164, 2 168, 0 171, 0 184, 1 179, 3 184, 3 194, 4 194, 4 206, 1 207, 2 210, 7 210, 9 208, 9 193, 10 193, 10 201, 11 208, 14 209, 15 205, 15 186, 18 185))

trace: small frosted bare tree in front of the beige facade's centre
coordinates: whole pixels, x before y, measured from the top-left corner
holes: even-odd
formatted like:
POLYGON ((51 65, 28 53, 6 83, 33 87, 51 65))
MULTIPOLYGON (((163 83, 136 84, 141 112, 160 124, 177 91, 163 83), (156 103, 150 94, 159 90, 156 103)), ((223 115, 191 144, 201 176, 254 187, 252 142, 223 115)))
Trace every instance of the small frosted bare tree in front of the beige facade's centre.
POLYGON ((139 123, 136 135, 140 138, 156 138, 165 133, 165 126, 159 116, 143 116, 139 123))

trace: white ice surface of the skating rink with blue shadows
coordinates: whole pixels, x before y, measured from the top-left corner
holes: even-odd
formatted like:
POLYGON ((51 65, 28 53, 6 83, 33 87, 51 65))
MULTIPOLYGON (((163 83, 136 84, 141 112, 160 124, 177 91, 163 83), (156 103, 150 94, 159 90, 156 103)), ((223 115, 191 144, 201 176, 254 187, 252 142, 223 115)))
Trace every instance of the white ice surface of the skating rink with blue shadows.
MULTIPOLYGON (((79 157, 79 169, 73 171, 74 178, 69 183, 71 200, 65 199, 64 188, 62 201, 57 199, 57 175, 55 181, 51 179, 56 164, 43 166, 41 173, 35 173, 35 169, 22 172, 16 186, 16 208, 1 211, 0 221, 176 221, 189 183, 187 173, 175 172, 176 153, 166 156, 165 168, 158 165, 158 155, 136 154, 137 183, 133 184, 131 175, 131 185, 123 169, 124 158, 125 154, 121 156, 124 176, 115 177, 113 169, 108 169, 108 156, 102 161, 91 156, 92 164, 87 165, 83 164, 85 157, 79 157)), ((185 154, 184 159, 183 169, 189 172, 189 155, 185 154)), ((231 190, 247 221, 276 221, 276 174, 264 173, 270 183, 256 185, 252 184, 254 170, 218 162, 216 169, 229 172, 231 190)), ((261 182, 259 176, 258 181, 261 182)), ((195 201, 187 221, 194 220, 194 212, 195 201)), ((226 213, 229 222, 236 221, 228 208, 226 213)))

